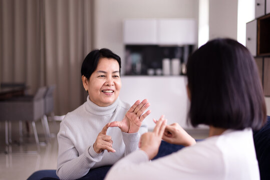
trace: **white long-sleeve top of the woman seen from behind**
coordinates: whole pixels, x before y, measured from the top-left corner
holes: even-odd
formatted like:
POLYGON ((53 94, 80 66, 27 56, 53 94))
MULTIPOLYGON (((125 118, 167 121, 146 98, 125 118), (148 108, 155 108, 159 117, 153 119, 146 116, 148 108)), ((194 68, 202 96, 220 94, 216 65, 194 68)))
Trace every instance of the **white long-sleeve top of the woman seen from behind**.
POLYGON ((111 179, 259 179, 252 130, 226 130, 170 155, 149 161, 143 150, 119 160, 111 179))

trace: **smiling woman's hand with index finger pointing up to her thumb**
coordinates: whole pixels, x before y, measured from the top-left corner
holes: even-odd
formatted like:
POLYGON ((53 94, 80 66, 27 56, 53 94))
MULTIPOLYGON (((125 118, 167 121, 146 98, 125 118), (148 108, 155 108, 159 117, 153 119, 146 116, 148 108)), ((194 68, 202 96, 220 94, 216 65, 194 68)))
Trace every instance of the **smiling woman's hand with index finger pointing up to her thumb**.
POLYGON ((103 150, 108 150, 108 152, 115 152, 112 148, 113 140, 112 137, 106 135, 107 129, 109 128, 111 123, 107 123, 101 132, 98 134, 98 137, 93 145, 95 152, 101 153, 103 150))

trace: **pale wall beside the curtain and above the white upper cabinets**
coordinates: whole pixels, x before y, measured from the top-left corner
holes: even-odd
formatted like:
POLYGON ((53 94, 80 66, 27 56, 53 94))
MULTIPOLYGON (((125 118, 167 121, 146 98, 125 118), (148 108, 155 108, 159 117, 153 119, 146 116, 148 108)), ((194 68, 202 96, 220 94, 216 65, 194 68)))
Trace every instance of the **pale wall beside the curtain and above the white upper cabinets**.
POLYGON ((125 18, 198 20, 198 0, 95 0, 94 4, 94 47, 113 50, 123 59, 123 67, 125 18))

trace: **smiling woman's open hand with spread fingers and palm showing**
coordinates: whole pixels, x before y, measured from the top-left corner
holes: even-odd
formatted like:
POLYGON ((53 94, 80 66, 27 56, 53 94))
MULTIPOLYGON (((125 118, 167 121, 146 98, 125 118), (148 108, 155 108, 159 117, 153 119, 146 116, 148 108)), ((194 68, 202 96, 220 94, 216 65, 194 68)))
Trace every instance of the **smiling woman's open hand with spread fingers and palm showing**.
POLYGON ((150 103, 147 99, 144 99, 141 103, 137 100, 127 111, 122 121, 111 122, 110 127, 119 127, 122 132, 135 133, 138 132, 142 125, 144 118, 151 113, 151 110, 147 110, 143 113, 150 103))

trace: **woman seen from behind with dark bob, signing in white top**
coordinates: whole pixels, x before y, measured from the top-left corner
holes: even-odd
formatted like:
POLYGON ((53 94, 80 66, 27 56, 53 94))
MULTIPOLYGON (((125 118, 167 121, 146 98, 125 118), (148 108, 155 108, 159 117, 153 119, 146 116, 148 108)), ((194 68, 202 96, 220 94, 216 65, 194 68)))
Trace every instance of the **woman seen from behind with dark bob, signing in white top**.
POLYGON ((214 39, 187 62, 187 92, 193 126, 209 125, 209 137, 195 140, 161 117, 141 136, 140 149, 119 160, 106 179, 259 179, 252 129, 266 120, 266 108, 252 55, 232 39, 214 39), (152 159, 161 138, 187 147, 152 159))

